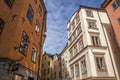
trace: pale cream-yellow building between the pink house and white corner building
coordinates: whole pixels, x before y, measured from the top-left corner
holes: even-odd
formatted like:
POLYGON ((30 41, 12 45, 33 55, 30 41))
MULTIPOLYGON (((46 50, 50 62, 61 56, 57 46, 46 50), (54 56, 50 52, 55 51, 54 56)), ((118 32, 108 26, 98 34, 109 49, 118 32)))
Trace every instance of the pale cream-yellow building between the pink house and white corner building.
POLYGON ((68 44, 66 44, 65 48, 60 53, 61 55, 61 74, 62 79, 61 80, 70 80, 70 66, 69 66, 69 47, 68 44))

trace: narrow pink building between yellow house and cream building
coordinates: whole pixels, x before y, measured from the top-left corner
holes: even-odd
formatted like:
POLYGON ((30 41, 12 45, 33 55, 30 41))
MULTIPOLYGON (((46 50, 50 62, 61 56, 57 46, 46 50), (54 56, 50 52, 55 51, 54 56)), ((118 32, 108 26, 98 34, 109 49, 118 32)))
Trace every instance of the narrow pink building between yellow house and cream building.
POLYGON ((53 55, 53 79, 61 80, 61 58, 59 54, 53 55))

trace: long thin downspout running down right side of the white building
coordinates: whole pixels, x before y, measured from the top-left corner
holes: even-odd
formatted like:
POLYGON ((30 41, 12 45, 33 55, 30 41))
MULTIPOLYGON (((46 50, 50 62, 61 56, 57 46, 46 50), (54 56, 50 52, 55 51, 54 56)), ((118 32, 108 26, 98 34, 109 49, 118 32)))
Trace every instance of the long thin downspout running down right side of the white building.
MULTIPOLYGON (((98 13, 99 10, 97 10, 97 13, 98 13)), ((102 21, 101 21, 101 18, 100 18, 100 15, 98 13, 98 17, 99 17, 99 20, 100 20, 100 23, 101 23, 101 26, 102 26, 102 30, 103 30, 103 33, 105 35, 105 31, 104 31, 104 28, 103 28, 103 24, 102 24, 102 21)), ((107 16, 108 17, 108 16, 107 16)), ((110 20, 109 20, 110 21, 110 20)), ((111 23, 110 23, 111 24, 111 23)), ((108 46, 108 42, 107 42, 107 37, 105 35, 105 40, 106 40, 106 43, 107 43, 107 46, 108 46)), ((117 80, 117 77, 116 77, 116 72, 115 72, 115 67, 114 67, 114 64, 113 64, 113 59, 112 59, 112 55, 111 55, 111 52, 110 52, 110 49, 109 49, 109 46, 108 46, 108 51, 110 53, 110 59, 111 59, 111 62, 112 62, 112 66, 113 66, 113 71, 114 71, 114 74, 115 74, 115 78, 117 80)))

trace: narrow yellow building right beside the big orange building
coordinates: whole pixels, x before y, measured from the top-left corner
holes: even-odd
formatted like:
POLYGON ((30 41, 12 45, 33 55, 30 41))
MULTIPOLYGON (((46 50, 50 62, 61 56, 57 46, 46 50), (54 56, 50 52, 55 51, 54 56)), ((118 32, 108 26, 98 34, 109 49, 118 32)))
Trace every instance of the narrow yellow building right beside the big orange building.
POLYGON ((46 52, 42 57, 42 80, 53 80, 53 55, 46 52))

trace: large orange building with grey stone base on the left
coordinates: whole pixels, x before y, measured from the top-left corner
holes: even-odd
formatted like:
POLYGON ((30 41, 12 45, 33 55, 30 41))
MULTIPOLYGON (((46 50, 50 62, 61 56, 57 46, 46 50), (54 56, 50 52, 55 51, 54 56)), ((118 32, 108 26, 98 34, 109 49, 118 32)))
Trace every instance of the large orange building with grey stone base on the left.
POLYGON ((46 31, 43 0, 0 0, 0 80, 38 80, 46 31))

